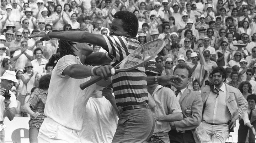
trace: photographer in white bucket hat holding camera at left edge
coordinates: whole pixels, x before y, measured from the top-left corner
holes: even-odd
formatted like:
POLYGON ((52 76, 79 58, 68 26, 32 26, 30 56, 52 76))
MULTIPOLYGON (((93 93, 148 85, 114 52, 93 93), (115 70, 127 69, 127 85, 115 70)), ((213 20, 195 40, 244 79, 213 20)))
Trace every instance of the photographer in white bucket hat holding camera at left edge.
POLYGON ((0 142, 4 143, 5 138, 5 116, 11 121, 14 119, 15 108, 17 108, 17 101, 14 93, 10 90, 14 86, 14 82, 17 82, 15 77, 15 71, 6 70, 3 76, 1 76, 1 88, 0 88, 0 142))

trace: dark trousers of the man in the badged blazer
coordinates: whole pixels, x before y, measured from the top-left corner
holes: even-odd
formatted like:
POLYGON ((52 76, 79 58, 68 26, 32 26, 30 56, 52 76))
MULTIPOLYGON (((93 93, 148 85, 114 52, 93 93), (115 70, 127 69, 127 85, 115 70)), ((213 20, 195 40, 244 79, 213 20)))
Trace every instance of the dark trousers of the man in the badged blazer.
POLYGON ((191 131, 181 133, 176 130, 169 132, 170 143, 195 143, 193 133, 191 131))

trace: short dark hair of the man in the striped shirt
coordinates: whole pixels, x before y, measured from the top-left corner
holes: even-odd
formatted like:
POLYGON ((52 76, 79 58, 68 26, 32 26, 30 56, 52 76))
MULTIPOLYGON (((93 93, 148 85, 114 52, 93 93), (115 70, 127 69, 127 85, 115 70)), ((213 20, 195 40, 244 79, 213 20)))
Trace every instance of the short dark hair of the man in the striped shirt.
POLYGON ((118 11, 113 16, 116 19, 122 20, 122 26, 124 31, 128 32, 132 30, 131 36, 136 37, 139 28, 138 18, 129 11, 118 11))

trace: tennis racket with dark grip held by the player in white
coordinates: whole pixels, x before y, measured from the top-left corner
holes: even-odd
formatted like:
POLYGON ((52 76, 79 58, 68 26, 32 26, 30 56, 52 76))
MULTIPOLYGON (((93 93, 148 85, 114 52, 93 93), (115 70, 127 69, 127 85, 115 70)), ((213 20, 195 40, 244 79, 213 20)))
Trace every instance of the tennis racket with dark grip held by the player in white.
MULTIPOLYGON (((127 71, 137 68, 144 63, 148 62, 150 59, 154 58, 164 47, 163 39, 155 39, 146 44, 138 47, 132 53, 130 53, 126 58, 124 58, 120 63, 118 63, 114 69, 115 72, 127 71)), ((80 88, 84 90, 86 87, 100 81, 101 76, 95 76, 94 78, 80 84, 80 88)))

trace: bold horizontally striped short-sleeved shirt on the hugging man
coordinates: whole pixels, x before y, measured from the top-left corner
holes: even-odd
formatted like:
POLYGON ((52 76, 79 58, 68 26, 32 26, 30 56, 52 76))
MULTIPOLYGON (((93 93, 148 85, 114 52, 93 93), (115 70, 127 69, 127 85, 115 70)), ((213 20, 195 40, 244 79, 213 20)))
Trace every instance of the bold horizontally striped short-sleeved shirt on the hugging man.
MULTIPOLYGON (((115 64, 121 62, 126 56, 140 46, 139 41, 124 36, 106 36, 108 49, 105 49, 115 64)), ((120 71, 112 77, 113 92, 117 107, 148 103, 148 90, 144 67, 129 71, 120 71)))

